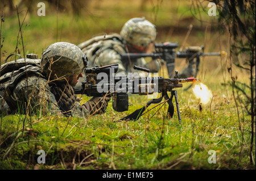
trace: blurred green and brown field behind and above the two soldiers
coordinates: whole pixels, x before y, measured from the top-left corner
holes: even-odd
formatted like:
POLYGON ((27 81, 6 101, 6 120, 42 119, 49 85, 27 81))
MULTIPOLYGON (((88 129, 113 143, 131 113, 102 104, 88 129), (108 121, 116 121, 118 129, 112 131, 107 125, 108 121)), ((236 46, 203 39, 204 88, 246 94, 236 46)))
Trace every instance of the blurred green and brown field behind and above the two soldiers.
MULTIPOLYGON (((2 50, 14 53, 19 39, 19 12, 22 24, 25 53, 37 53, 56 41, 79 44, 98 33, 119 33, 123 24, 134 17, 144 16, 154 23, 158 30, 156 41, 177 41, 183 43, 190 24, 192 31, 185 45, 205 44, 206 33, 217 30, 217 16, 208 16, 208 2, 157 1, 157 0, 86 0, 86 1, 3 1, 0 9, 5 19, 2 23, 2 50), (39 2, 46 5, 46 16, 38 16, 39 2)), ((215 36, 215 37, 214 37, 215 36)), ((216 41, 212 35, 210 42, 216 41)), ((205 44, 209 49, 215 46, 205 44)))

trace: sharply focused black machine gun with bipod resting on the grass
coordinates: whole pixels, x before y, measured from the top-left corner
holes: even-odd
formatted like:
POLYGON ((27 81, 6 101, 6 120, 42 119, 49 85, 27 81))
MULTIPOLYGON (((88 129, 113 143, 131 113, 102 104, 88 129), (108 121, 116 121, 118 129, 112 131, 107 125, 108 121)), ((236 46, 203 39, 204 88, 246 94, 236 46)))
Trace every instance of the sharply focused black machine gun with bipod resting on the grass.
MULTIPOLYGON (((148 69, 139 68, 138 66, 134 66, 134 69, 149 71, 148 69)), ((175 97, 177 115, 181 122, 177 91, 173 89, 176 87, 183 87, 181 84, 183 82, 196 81, 195 78, 179 79, 177 71, 175 71, 175 76, 172 79, 163 77, 133 77, 129 75, 128 77, 126 77, 126 75, 116 76, 114 74, 117 70, 118 64, 85 69, 85 74, 87 74, 86 81, 82 82, 81 89, 75 89, 75 94, 112 96, 113 109, 118 112, 123 112, 129 109, 129 95, 127 93, 148 95, 153 94, 154 92, 162 92, 160 98, 151 99, 146 106, 134 111, 121 120, 137 120, 150 104, 160 103, 163 98, 166 99, 169 104, 167 117, 170 118, 174 115, 172 99, 175 97), (171 92, 170 98, 167 92, 171 92)))

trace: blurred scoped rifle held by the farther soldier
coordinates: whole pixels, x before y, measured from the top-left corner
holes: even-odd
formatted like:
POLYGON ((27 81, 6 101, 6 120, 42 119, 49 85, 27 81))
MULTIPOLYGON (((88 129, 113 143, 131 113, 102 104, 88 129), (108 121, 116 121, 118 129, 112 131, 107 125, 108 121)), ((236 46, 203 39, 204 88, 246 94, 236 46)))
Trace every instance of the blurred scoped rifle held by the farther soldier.
POLYGON ((199 70, 200 64, 200 57, 201 56, 220 56, 222 53, 214 52, 214 53, 204 53, 204 47, 188 47, 184 51, 177 51, 175 52, 175 48, 178 47, 177 43, 160 43, 155 44, 155 51, 153 53, 122 53, 121 58, 123 64, 128 64, 129 61, 133 62, 136 61, 137 58, 141 57, 152 57, 152 59, 163 59, 166 61, 167 69, 169 77, 174 76, 174 69, 175 69, 175 57, 176 58, 187 58, 188 60, 188 68, 186 71, 181 72, 181 78, 185 77, 196 77, 197 72, 199 70), (196 64, 196 70, 193 69, 193 65, 196 64), (185 76, 187 75, 187 76, 185 76))

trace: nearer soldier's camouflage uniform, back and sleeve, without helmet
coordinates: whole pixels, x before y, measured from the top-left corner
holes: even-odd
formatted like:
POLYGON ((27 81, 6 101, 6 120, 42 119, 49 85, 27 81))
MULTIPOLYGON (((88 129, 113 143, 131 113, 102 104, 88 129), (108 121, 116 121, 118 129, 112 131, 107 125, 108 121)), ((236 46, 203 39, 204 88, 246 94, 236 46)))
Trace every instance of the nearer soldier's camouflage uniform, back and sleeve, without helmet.
MULTIPOLYGON (((16 110, 7 110, 5 113, 26 113, 26 106, 29 105, 28 107, 34 114, 59 114, 63 116, 55 95, 51 92, 48 78, 42 74, 40 61, 39 59, 31 60, 26 58, 25 60, 22 58, 1 66, 1 87, 4 88, 3 91, 7 91, 9 98, 18 107, 16 110), (22 66, 25 64, 25 61, 26 66, 22 66), (20 66, 22 67, 20 68, 20 66)), ((6 105, 4 99, 6 98, 1 98, 1 103, 6 105)), ((0 113, 3 113, 2 111, 1 109, 0 113)), ((72 116, 84 118, 88 114, 89 111, 82 107, 79 102, 76 101, 73 104, 71 109, 72 116)))

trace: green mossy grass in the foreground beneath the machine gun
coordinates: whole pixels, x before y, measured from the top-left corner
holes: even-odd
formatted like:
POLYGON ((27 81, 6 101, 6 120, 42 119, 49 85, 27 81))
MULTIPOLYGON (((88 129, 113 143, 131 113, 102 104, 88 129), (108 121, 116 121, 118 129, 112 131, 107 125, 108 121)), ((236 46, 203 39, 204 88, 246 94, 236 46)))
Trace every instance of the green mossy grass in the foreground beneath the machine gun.
MULTIPOLYGON (((33 169, 39 149, 47 151, 40 169, 252 169, 233 102, 214 98, 212 112, 209 104, 200 111, 191 90, 178 94, 181 124, 176 108, 172 119, 165 118, 167 106, 151 119, 158 108, 137 121, 114 123, 147 102, 138 95, 130 97, 133 106, 125 113, 114 112, 110 103, 105 114, 86 119, 31 117, 23 132, 24 116, 2 117, 1 169, 33 169), (216 164, 208 163, 209 150, 216 151, 216 164)), ((240 116, 249 145, 250 117, 240 116)))

